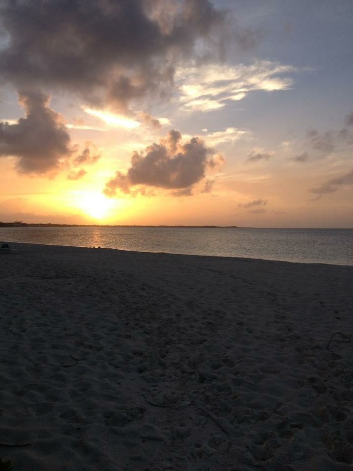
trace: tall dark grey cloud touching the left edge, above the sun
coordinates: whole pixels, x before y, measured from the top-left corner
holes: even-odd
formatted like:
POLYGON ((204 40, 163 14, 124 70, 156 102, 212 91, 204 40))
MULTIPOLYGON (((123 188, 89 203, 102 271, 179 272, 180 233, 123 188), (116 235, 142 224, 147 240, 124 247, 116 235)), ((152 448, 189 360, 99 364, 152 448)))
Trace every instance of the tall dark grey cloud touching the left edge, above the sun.
POLYGON ((45 174, 59 167, 72 154, 70 135, 62 116, 49 107, 50 96, 21 91, 25 118, 17 124, 0 122, 0 157, 17 157, 20 173, 45 174))

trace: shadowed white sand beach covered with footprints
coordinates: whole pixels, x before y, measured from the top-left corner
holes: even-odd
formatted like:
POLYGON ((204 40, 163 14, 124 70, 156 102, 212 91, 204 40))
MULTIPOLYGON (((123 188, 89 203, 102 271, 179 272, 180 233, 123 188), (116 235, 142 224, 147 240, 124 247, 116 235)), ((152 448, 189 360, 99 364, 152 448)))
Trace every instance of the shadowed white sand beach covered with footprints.
POLYGON ((353 267, 11 245, 14 471, 352 470, 353 267))

